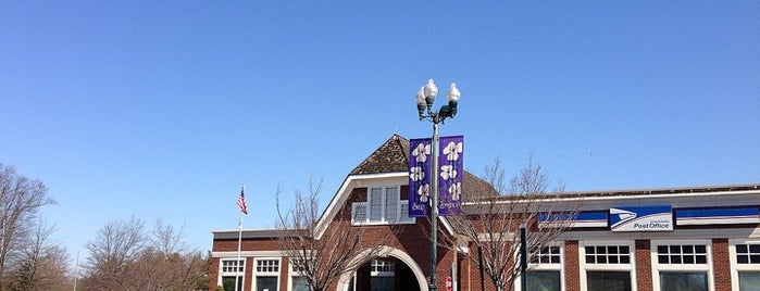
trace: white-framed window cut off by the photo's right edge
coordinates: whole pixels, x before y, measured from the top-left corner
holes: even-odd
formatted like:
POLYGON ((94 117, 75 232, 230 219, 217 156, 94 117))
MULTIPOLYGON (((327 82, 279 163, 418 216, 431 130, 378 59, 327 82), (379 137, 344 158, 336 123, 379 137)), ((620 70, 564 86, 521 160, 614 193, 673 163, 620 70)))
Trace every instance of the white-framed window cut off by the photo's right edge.
POLYGON ((733 290, 760 291, 760 242, 736 239, 731 243, 733 290))

